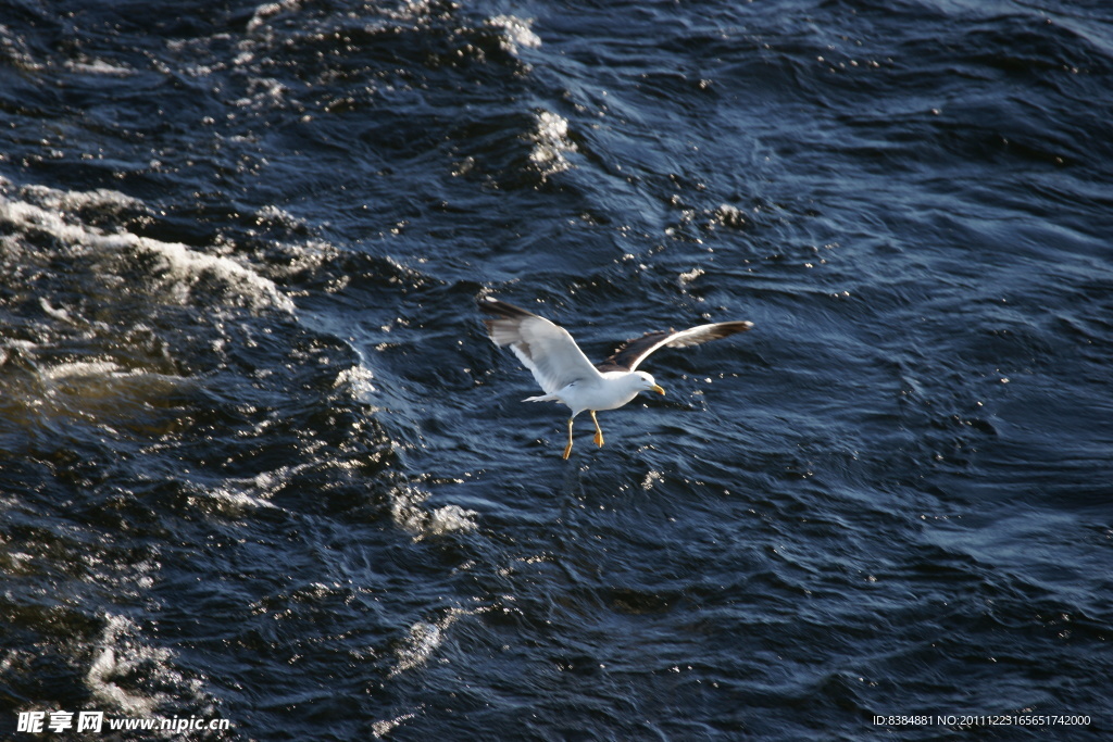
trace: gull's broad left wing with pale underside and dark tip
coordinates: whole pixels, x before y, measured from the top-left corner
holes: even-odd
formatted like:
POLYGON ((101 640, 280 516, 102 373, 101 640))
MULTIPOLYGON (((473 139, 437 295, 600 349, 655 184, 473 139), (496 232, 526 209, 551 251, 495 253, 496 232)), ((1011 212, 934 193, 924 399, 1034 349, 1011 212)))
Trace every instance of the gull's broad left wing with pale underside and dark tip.
POLYGON ((479 299, 477 304, 491 317, 483 324, 494 344, 509 345, 518 359, 533 372, 533 378, 545 394, 572 382, 599 378, 599 372, 563 327, 490 296, 479 299))

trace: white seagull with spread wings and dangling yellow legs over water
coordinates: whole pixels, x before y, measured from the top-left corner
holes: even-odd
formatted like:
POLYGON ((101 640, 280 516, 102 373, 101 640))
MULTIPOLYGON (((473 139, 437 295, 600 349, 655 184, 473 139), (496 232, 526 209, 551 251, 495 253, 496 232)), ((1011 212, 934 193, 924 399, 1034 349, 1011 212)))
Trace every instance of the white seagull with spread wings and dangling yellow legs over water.
POLYGON ((607 360, 592 364, 567 329, 544 317, 492 296, 484 296, 476 304, 483 314, 490 316, 483 324, 491 340, 499 347, 510 346, 544 390, 543 395, 526 397, 522 402, 560 402, 572 409, 572 416, 568 418, 565 459, 572 453, 572 423, 583 410, 591 413, 591 422, 595 424, 594 442, 602 447, 603 432, 595 418, 598 410, 618 409, 639 392, 664 394, 652 376, 638 370, 651 353, 658 348, 700 345, 754 327, 751 321, 725 321, 679 332, 646 333, 627 340, 607 360))

